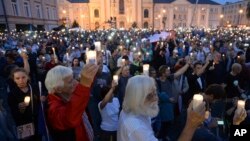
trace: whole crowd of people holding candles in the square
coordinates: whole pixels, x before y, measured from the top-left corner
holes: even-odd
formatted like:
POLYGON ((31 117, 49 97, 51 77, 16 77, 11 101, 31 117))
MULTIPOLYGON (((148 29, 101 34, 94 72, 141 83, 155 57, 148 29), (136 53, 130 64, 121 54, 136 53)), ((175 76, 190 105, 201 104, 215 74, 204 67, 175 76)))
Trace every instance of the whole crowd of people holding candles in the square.
POLYGON ((250 124, 249 31, 0 33, 0 139, 229 140, 250 124))

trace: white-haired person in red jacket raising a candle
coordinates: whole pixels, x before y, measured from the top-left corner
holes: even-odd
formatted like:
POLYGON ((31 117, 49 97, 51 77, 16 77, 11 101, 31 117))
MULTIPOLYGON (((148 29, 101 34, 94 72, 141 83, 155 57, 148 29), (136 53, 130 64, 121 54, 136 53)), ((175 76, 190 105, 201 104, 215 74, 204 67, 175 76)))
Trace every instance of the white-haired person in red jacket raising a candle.
POLYGON ((90 87, 98 66, 87 64, 78 83, 72 69, 52 68, 46 76, 48 89, 48 122, 54 141, 92 141, 93 130, 85 109, 90 98, 90 87))

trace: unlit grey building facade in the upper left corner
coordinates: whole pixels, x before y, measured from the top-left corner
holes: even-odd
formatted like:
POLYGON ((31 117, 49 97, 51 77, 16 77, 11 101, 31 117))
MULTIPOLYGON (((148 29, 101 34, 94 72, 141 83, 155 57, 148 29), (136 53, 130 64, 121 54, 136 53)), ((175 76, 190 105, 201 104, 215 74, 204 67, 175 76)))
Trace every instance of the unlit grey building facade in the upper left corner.
POLYGON ((50 30, 58 26, 56 0, 0 0, 0 28, 50 30))

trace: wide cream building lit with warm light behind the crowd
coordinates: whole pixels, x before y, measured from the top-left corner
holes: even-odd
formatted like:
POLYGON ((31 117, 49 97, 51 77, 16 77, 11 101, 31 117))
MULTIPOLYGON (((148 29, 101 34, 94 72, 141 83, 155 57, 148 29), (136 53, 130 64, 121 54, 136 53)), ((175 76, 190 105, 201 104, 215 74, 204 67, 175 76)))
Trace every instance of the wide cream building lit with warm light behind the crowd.
POLYGON ((57 0, 59 19, 86 29, 176 27, 215 28, 222 6, 211 0, 57 0))

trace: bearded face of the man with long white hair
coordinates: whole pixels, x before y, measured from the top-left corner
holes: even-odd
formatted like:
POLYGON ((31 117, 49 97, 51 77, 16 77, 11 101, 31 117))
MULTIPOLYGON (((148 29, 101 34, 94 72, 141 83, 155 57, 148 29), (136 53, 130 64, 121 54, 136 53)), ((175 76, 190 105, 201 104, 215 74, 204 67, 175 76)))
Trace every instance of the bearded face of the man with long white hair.
POLYGON ((156 87, 153 87, 149 93, 147 94, 144 105, 143 111, 146 116, 149 117, 156 117, 159 113, 159 106, 158 106, 158 95, 156 91, 156 87))

